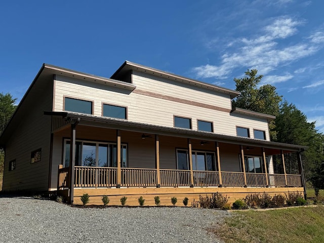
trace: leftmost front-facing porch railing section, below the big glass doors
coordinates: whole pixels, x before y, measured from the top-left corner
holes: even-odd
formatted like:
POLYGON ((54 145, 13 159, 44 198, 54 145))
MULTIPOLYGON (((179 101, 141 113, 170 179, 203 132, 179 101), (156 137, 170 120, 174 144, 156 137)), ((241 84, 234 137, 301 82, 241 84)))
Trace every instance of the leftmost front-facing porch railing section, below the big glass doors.
POLYGON ((74 167, 74 187, 116 186, 117 168, 74 167))

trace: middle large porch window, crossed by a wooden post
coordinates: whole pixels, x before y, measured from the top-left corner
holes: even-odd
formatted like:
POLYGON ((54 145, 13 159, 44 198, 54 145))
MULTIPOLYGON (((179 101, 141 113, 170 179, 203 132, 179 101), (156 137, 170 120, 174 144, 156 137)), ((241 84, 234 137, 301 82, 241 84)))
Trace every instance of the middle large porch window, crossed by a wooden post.
MULTIPOLYGON (((194 171, 216 171, 215 153, 209 151, 192 150, 192 170, 194 171)), ((177 149, 177 169, 188 170, 188 150, 177 149)))

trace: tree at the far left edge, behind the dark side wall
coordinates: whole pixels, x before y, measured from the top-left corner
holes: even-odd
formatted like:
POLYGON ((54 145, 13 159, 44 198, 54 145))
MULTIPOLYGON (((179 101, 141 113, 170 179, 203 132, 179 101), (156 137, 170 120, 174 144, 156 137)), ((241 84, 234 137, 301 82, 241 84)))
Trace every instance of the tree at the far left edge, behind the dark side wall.
POLYGON ((12 114, 16 109, 16 100, 11 94, 0 93, 0 134, 4 131, 12 114))

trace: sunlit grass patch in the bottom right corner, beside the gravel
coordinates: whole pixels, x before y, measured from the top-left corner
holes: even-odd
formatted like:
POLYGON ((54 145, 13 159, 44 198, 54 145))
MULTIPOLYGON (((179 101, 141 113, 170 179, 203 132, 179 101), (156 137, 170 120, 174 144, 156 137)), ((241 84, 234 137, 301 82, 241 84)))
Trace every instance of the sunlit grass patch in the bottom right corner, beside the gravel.
POLYGON ((238 211, 212 229, 227 242, 324 242, 324 207, 238 211))

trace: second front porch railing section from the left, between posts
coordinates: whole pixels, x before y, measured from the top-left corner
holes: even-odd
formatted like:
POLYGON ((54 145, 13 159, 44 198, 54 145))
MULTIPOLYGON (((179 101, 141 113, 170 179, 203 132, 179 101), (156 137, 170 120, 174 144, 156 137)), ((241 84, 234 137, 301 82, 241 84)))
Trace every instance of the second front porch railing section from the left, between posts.
POLYGON ((121 168, 121 185, 128 187, 156 186, 156 169, 121 168))

